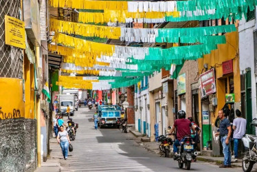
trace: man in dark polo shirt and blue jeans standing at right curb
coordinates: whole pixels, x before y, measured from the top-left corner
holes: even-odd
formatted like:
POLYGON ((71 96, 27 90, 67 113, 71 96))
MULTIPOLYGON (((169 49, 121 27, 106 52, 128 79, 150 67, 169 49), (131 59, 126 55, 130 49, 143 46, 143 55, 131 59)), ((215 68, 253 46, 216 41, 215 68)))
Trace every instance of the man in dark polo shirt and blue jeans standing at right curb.
POLYGON ((219 132, 215 136, 220 136, 223 147, 224 162, 219 168, 231 168, 230 136, 232 133, 230 120, 225 117, 223 110, 219 111, 219 132))

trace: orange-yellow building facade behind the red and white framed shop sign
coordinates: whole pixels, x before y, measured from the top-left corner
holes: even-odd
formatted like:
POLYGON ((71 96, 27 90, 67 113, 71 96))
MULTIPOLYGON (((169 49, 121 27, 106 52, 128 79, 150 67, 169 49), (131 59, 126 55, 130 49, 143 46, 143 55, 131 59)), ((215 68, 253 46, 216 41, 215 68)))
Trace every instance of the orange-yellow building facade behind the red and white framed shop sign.
MULTIPOLYGON (((218 100, 218 105, 215 108, 215 112, 212 113, 212 125, 216 120, 218 111, 225 105, 225 84, 224 80, 227 76, 223 76, 222 63, 224 61, 229 61, 233 59, 233 70, 234 70, 234 94, 235 101, 241 101, 241 78, 239 69, 239 56, 238 56, 238 32, 232 32, 225 34, 227 43, 218 45, 218 49, 212 51, 211 54, 199 58, 198 67, 199 74, 202 74, 205 70, 203 65, 208 64, 208 69, 211 67, 215 68, 216 76, 216 98, 218 100)), ((233 75, 233 74, 232 74, 233 75)), ((199 99, 199 112, 201 114, 201 98, 199 99)), ((201 118, 199 119, 201 121, 201 118)))

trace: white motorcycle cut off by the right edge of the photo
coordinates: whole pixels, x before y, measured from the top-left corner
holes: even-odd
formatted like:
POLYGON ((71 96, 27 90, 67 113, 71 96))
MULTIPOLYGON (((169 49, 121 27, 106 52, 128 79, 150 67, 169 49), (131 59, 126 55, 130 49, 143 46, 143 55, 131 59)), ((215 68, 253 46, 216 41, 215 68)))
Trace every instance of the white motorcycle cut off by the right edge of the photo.
MULTIPOLYGON (((252 126, 257 127, 257 119, 254 118, 251 122, 252 126)), ((257 136, 252 134, 245 134, 242 138, 245 146, 245 153, 243 153, 242 168, 243 171, 252 171, 254 164, 257 162, 257 136)))

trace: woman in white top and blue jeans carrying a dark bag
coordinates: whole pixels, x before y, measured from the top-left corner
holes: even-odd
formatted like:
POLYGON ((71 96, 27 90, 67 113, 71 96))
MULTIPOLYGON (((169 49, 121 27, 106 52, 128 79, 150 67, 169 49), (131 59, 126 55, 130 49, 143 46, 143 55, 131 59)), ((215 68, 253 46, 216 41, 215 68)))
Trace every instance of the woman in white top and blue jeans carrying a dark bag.
POLYGON ((60 131, 58 132, 57 142, 60 144, 60 148, 63 151, 63 158, 67 160, 68 158, 68 149, 71 141, 69 140, 69 134, 66 130, 64 130, 63 125, 60 126, 60 131))

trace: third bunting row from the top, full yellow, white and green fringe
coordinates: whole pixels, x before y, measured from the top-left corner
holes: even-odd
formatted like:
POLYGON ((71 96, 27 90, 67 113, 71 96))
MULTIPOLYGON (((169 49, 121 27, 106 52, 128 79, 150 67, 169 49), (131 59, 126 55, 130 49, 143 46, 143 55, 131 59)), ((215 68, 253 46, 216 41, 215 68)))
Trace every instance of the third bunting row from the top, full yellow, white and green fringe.
MULTIPOLYGON (((236 27, 234 25, 217 25, 203 28, 147 29, 85 25, 58 20, 51 21, 52 31, 56 32, 77 34, 81 36, 99 36, 101 38, 108 39, 120 38, 120 41, 135 41, 143 43, 225 43, 225 36, 216 36, 214 38, 211 35, 236 31, 236 27), (87 30, 87 28, 89 30, 87 30)), ((60 36, 60 34, 56 36, 60 36)), ((72 37, 70 39, 72 39, 72 37)))

